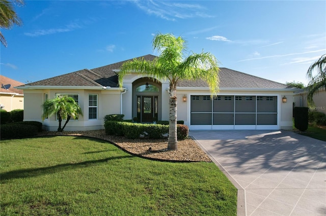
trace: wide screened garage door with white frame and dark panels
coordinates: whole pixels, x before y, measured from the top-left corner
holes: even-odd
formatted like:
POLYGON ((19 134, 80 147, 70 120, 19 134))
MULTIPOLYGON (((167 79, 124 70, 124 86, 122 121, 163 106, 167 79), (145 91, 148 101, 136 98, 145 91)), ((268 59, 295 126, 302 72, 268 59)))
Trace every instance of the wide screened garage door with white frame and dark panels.
POLYGON ((277 129, 277 96, 191 95, 191 129, 277 129))

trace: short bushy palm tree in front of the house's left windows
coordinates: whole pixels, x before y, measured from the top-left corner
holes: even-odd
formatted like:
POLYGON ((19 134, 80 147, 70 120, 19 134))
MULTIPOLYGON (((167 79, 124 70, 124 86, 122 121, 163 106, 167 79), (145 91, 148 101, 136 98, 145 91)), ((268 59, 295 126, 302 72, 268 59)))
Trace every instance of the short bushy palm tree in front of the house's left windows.
POLYGON ((72 97, 58 96, 51 100, 46 100, 42 104, 43 114, 42 120, 45 118, 57 114, 59 120, 58 132, 62 132, 67 123, 71 119, 77 119, 79 115, 83 116, 82 109, 72 97), (61 128, 61 122, 66 119, 64 126, 61 128))

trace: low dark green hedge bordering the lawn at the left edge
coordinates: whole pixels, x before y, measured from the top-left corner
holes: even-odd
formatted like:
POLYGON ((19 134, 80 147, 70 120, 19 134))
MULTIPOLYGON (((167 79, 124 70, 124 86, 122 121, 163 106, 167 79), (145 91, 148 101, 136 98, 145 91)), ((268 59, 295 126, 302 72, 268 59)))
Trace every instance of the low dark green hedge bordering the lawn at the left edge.
POLYGON ((28 124, 5 124, 0 127, 1 139, 31 137, 37 133, 37 126, 28 124))

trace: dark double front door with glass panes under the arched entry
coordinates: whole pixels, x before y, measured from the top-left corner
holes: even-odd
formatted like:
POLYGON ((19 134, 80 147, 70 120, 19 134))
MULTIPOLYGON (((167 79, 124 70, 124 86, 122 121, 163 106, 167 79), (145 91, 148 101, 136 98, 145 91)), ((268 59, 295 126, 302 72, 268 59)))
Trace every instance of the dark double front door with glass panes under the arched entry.
POLYGON ((157 121, 158 96, 137 96, 137 117, 140 122, 157 121))

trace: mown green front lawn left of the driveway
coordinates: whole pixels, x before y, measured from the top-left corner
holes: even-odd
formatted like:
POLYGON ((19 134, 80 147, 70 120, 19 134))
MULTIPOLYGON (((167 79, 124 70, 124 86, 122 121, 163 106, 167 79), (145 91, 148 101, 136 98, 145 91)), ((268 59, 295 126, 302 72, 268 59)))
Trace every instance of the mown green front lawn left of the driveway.
POLYGON ((236 215, 237 191, 213 163, 74 136, 2 140, 0 157, 2 215, 236 215))

